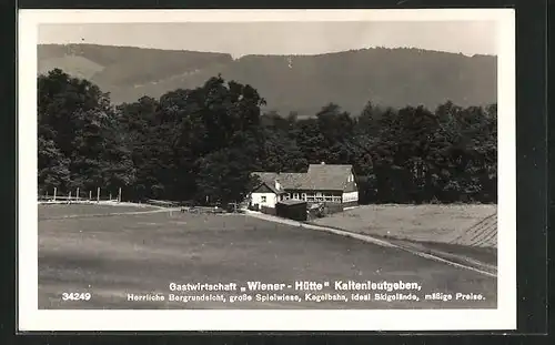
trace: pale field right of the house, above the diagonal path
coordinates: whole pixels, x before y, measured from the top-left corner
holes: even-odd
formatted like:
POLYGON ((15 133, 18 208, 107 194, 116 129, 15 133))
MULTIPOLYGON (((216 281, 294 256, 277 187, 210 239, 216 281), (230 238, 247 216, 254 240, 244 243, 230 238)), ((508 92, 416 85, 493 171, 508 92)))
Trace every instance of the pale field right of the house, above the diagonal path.
POLYGON ((497 247, 496 205, 363 205, 313 223, 415 242, 497 247))

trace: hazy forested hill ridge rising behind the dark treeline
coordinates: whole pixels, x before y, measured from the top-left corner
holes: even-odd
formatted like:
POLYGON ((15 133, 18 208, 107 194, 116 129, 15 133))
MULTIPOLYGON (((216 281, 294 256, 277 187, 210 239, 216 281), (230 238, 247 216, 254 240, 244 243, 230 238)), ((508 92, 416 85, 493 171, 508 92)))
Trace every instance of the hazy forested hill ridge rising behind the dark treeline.
POLYGON ((38 47, 38 71, 59 68, 111 93, 112 102, 159 98, 202 85, 222 74, 256 85, 264 110, 313 115, 327 102, 359 114, 372 100, 383 106, 425 105, 447 100, 462 106, 495 103, 497 59, 418 49, 363 49, 319 55, 245 55, 109 47, 38 47))

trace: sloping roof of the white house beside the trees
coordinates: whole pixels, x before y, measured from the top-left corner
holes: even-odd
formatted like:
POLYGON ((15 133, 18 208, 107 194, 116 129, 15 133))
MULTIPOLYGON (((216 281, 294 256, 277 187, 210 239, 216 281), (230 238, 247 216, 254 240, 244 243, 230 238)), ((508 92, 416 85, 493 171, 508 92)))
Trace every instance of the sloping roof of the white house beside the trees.
POLYGON ((352 165, 311 164, 306 173, 254 172, 273 189, 278 181, 284 190, 343 191, 352 165))

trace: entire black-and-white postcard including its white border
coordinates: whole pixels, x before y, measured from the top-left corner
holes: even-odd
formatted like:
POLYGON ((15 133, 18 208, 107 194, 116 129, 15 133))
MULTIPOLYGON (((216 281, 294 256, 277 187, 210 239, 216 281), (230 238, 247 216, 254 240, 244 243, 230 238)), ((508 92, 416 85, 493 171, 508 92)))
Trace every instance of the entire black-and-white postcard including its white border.
POLYGON ((512 10, 19 21, 26 329, 516 326, 512 10))

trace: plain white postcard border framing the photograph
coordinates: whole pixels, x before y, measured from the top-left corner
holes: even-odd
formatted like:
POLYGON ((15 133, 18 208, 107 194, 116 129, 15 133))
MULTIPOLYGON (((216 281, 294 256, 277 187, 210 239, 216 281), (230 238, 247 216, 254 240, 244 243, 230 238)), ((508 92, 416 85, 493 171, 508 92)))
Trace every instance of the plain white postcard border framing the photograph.
POLYGON ((438 10, 21 10, 18 47, 20 331, 463 331, 516 328, 515 12, 438 10), (44 311, 38 310, 37 38, 40 23, 244 21, 498 23, 497 310, 44 311))

